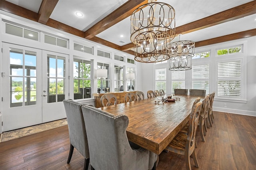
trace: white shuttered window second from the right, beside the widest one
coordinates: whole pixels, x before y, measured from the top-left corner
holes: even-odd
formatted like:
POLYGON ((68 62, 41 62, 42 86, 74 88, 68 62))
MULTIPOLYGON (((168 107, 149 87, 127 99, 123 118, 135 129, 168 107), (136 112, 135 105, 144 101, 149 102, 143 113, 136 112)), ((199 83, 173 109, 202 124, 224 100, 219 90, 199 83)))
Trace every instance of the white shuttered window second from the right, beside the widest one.
POLYGON ((193 65, 192 66, 192 89, 206 90, 206 95, 209 94, 209 74, 210 65, 193 65))

